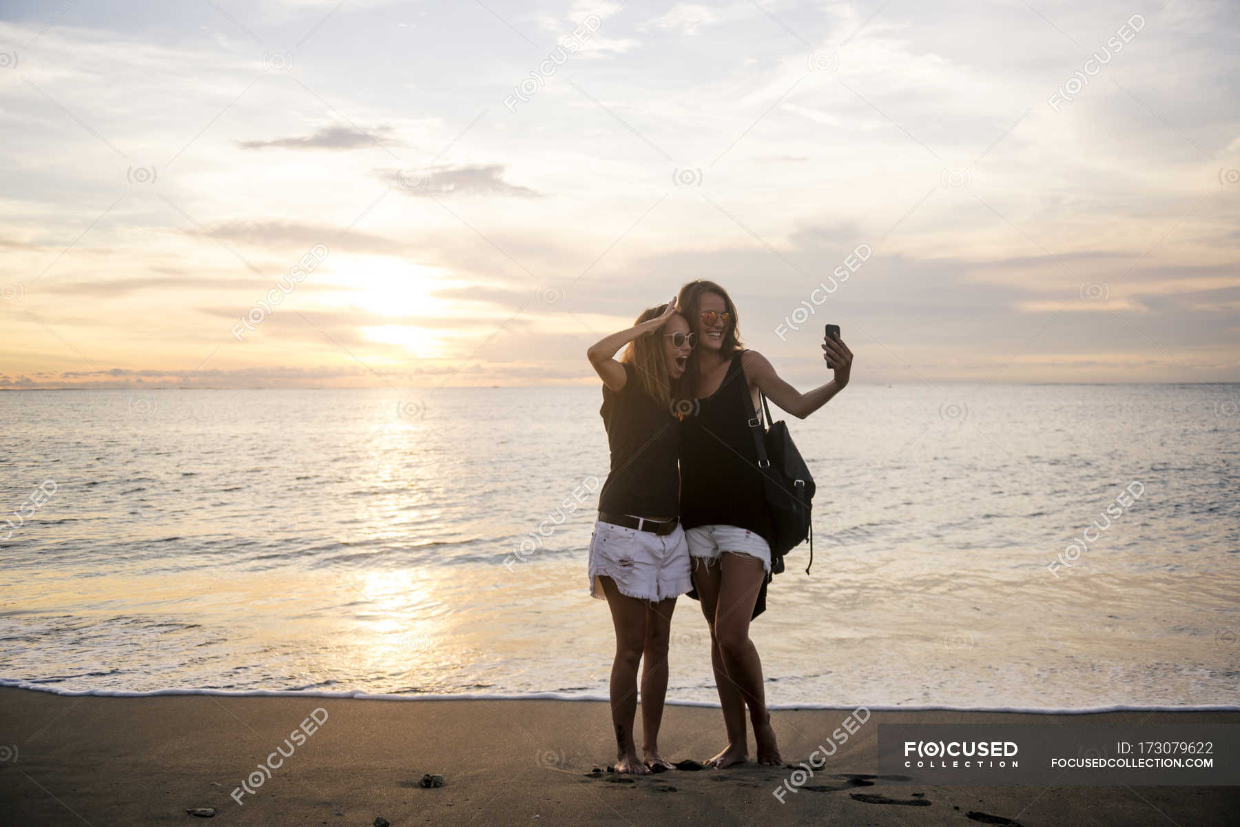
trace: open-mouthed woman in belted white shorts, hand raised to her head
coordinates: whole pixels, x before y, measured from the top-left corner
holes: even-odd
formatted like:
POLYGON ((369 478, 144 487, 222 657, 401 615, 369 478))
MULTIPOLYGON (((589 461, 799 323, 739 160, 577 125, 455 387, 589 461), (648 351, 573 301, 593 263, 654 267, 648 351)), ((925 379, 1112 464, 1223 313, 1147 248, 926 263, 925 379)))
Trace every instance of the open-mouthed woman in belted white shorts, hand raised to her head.
POLYGON ((673 386, 684 372, 696 336, 676 304, 650 307, 627 329, 587 351, 603 379, 603 424, 611 470, 599 492, 590 538, 590 594, 606 599, 616 635, 611 662, 611 723, 619 772, 670 770, 658 753, 667 694, 667 645, 676 598, 692 588, 688 546, 680 513, 680 428, 673 386), (620 361, 615 352, 627 345, 620 361), (641 671, 642 758, 634 718, 641 671))

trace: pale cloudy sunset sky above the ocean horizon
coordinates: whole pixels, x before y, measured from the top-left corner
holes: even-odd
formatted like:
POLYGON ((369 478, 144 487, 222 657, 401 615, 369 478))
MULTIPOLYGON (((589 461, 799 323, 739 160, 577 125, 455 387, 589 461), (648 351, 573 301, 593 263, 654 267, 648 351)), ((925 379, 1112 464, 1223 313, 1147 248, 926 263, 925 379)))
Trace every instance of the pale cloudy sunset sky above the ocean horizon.
POLYGON ((1240 6, 0 2, 0 388, 1240 381, 1240 6))

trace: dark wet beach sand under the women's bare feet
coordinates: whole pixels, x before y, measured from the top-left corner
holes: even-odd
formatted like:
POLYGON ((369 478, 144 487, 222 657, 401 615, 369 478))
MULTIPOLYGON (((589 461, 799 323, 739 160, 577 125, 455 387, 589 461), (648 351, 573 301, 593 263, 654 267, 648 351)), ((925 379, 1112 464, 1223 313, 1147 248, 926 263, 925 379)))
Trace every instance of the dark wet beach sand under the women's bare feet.
MULTIPOLYGON (((774 713, 785 760, 804 760, 849 712, 774 713)), ((591 772, 613 758, 604 703, 108 698, 0 688, 0 823, 1235 823, 1240 787, 962 787, 875 777, 878 723, 1138 720, 1240 723, 1240 712, 874 712, 780 803, 773 790, 789 777, 784 767, 636 779, 591 772), (259 772, 263 761, 277 767, 259 772), (443 786, 423 787, 427 774, 441 775, 443 786), (196 817, 191 807, 217 812, 196 817)), ((701 761, 723 746, 722 732, 718 709, 668 707, 660 741, 673 761, 701 761)))

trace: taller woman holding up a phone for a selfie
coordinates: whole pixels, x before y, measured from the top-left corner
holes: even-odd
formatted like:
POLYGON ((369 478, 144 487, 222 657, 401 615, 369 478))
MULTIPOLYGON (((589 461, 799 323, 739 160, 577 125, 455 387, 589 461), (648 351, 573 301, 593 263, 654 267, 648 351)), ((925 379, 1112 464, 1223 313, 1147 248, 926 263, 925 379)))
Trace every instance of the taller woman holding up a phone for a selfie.
POLYGON ((763 688, 763 665, 749 639, 758 595, 771 570, 773 526, 754 428, 758 393, 804 419, 848 384, 852 351, 833 336, 822 343, 835 378, 801 393, 766 358, 742 348, 737 307, 713 281, 681 288, 677 307, 698 347, 681 382, 689 415, 681 428, 681 522, 693 567, 693 588, 711 627, 711 662, 723 707, 728 746, 707 761, 715 767, 749 760, 745 707, 759 764, 780 764, 763 688), (748 397, 748 399, 746 399, 748 397))

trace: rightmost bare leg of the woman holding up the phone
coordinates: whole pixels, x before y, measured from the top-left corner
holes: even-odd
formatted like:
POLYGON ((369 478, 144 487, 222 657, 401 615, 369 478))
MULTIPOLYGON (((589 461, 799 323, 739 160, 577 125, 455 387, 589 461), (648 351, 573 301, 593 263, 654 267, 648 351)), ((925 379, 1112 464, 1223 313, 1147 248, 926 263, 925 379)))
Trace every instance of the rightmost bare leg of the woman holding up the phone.
POLYGON ((749 640, 749 620, 758 601, 766 570, 763 562, 748 554, 722 555, 722 575, 714 620, 723 666, 737 691, 749 705, 749 719, 758 741, 759 764, 782 764, 763 686, 763 663, 749 640))

